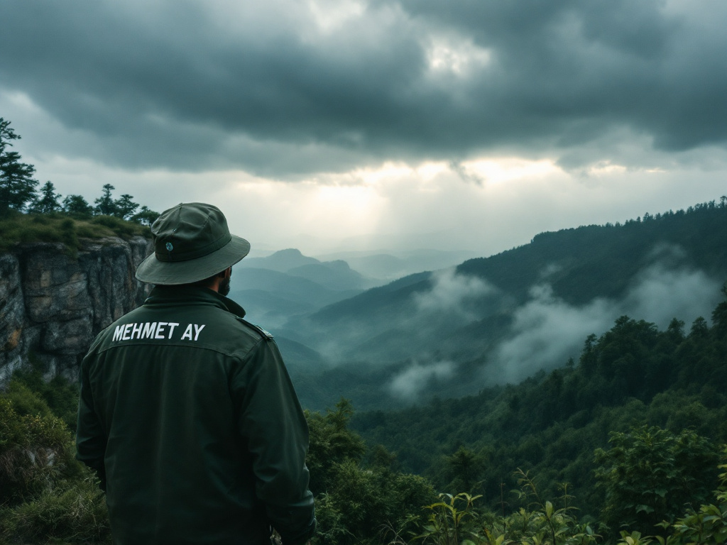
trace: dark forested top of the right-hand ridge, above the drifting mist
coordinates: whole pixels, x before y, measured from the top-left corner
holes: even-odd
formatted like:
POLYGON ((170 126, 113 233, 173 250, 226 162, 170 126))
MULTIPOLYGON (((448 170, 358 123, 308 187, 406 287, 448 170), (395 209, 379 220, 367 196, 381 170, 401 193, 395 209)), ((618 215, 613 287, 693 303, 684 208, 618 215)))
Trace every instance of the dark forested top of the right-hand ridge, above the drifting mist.
POLYGON ((566 302, 618 299, 635 275, 659 259, 682 261, 720 278, 727 267, 727 198, 663 214, 644 214, 623 225, 588 225, 540 233, 530 244, 490 258, 470 259, 457 270, 487 278, 516 297, 547 270, 553 291, 566 302), (675 253, 670 253, 676 250, 675 253))

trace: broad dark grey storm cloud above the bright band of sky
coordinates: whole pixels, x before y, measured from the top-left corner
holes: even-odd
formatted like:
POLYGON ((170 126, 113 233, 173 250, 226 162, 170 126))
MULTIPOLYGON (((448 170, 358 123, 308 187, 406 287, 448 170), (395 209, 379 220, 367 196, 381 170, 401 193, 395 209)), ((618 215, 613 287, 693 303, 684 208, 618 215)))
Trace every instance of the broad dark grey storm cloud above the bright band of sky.
POLYGON ((721 2, 373 1, 330 28, 306 6, 4 2, 0 91, 89 135, 76 155, 278 177, 727 137, 721 2))

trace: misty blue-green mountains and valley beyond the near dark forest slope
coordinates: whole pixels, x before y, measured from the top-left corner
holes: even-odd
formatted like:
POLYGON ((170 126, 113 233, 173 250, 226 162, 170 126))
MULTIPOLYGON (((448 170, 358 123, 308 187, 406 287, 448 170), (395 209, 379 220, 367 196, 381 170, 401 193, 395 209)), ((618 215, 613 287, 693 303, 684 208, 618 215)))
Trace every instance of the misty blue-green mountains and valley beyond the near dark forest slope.
POLYGON ((305 406, 344 395, 390 408, 563 366, 621 315, 659 328, 708 317, 727 280, 725 241, 725 203, 707 203, 541 233, 379 286, 348 262, 287 250, 244 259, 233 286, 250 288, 231 296, 276 334, 305 406))

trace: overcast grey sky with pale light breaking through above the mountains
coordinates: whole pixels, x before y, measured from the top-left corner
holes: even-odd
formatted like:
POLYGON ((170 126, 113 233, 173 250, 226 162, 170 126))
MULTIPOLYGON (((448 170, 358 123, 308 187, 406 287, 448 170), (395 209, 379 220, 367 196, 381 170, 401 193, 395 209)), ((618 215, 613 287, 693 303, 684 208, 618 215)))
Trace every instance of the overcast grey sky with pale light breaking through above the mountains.
POLYGON ((489 255, 727 193, 723 0, 0 3, 41 182, 254 249, 489 255))

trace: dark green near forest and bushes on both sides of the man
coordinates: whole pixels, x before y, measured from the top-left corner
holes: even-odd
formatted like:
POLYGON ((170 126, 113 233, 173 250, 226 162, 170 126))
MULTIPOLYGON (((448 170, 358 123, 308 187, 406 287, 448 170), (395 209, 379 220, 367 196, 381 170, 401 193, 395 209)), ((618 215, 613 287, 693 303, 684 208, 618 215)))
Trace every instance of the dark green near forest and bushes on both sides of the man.
MULTIPOLYGON (((726 357, 727 301, 689 331, 619 318, 578 363, 517 386, 307 412, 315 543, 723 543, 726 357)), ((108 543, 73 459, 76 386, 43 372, 0 395, 0 542, 108 543)))

